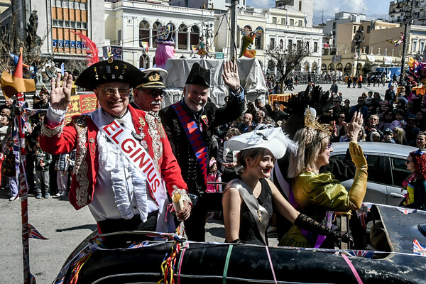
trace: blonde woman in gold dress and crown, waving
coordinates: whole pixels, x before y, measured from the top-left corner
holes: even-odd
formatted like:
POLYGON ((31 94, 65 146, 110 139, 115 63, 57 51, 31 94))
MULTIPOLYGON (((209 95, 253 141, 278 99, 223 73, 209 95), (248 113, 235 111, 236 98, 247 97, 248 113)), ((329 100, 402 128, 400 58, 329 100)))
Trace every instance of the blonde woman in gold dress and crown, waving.
MULTIPOLYGON (((329 163, 333 148, 330 143, 329 125, 319 124, 309 112, 305 116, 305 127, 297 131, 294 141, 297 152, 291 153, 288 177, 293 178, 290 200, 295 200, 297 209, 317 222, 331 226, 332 213, 348 212, 361 207, 367 187, 367 161, 361 146, 357 144, 358 133, 363 124, 362 115, 355 113, 351 123, 346 124, 349 153, 356 165, 351 190, 340 184, 329 172, 320 173, 320 168, 329 163)), ((294 224, 283 236, 280 246, 329 247, 324 236, 305 230, 294 224)))

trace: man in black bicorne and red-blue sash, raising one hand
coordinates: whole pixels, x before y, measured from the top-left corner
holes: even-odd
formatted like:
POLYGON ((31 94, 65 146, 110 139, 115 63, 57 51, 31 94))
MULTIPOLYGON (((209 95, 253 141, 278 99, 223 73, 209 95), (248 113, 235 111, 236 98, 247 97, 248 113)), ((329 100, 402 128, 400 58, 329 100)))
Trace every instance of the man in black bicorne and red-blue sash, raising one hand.
POLYGON ((244 110, 244 90, 238 68, 233 62, 224 62, 223 68, 222 78, 230 91, 226 107, 217 109, 214 104, 207 104, 210 70, 194 63, 183 88, 183 99, 160 111, 188 191, 198 197, 190 218, 185 220, 185 231, 191 241, 205 240, 207 207, 200 193, 207 189, 212 132, 215 127, 237 119, 244 110))

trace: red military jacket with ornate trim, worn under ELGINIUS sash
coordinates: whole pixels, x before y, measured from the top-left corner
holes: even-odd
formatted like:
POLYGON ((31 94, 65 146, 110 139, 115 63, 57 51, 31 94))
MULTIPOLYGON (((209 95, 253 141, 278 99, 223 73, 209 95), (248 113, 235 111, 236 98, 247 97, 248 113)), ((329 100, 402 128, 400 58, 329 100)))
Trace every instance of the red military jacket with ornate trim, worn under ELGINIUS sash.
MULTIPOLYGON (((134 109, 131 106, 129 106, 129 111, 136 133, 145 134, 143 141, 148 146, 146 150, 154 162, 158 163, 158 172, 165 181, 169 195, 171 196, 176 187, 187 190, 163 125, 145 111, 134 109)), ((96 194, 94 187, 99 169, 98 131, 99 129, 88 115, 73 116, 72 121, 66 126, 64 124, 55 128, 45 124, 42 126, 40 146, 44 151, 58 155, 70 153, 74 148, 76 149, 70 189, 70 203, 75 209, 80 209, 92 202, 93 195, 96 194)), ((151 196, 153 196, 152 192, 151 196)))

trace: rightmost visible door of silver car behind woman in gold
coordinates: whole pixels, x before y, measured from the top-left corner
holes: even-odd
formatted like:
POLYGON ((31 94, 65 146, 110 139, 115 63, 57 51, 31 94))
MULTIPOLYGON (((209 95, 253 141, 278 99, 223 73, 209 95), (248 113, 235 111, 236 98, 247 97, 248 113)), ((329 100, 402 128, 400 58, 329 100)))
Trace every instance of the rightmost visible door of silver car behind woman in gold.
POLYGON ((406 191, 401 192, 403 181, 410 175, 405 165, 405 157, 403 156, 387 156, 386 157, 387 172, 391 173, 391 177, 386 185, 387 204, 398 206, 404 198, 406 191))

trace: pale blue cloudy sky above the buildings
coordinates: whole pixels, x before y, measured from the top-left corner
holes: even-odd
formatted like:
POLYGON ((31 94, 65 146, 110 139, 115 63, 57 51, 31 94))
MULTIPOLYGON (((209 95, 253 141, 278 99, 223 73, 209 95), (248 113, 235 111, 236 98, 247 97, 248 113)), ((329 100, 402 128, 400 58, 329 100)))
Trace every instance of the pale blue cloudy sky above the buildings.
MULTIPOLYGON (((391 0, 314 0, 314 24, 334 18, 340 11, 365 13, 367 18, 388 18, 391 0)), ((272 8, 272 0, 247 0, 248 6, 256 8, 272 8)))

